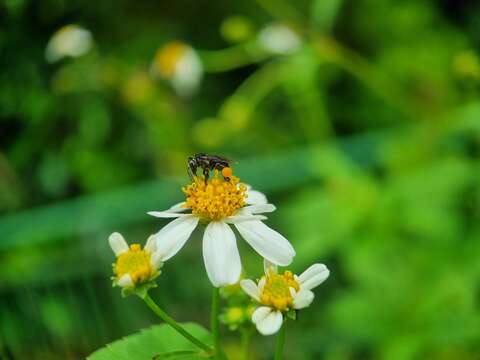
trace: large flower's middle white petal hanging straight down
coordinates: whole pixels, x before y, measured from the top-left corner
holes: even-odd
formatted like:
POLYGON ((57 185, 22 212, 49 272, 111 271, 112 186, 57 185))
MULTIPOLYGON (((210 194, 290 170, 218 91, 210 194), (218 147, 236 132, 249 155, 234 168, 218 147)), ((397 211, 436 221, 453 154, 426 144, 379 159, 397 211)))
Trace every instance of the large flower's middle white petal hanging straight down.
POLYGON ((203 235, 203 260, 207 275, 216 287, 235 284, 242 264, 235 234, 226 223, 212 221, 203 235))

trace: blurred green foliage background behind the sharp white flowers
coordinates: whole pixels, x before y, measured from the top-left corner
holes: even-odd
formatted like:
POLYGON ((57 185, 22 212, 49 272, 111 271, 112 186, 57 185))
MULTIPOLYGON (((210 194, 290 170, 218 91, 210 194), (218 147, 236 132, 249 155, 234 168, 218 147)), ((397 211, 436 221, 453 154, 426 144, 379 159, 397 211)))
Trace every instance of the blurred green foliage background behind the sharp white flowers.
MULTIPOLYGON (((480 358, 478 1, 4 0, 0 19, 1 359, 158 322, 111 288, 107 237, 165 225, 146 211, 182 199, 198 151, 277 205, 294 270, 331 269, 288 359, 480 358)), ((152 295, 206 325, 200 240, 152 295)))

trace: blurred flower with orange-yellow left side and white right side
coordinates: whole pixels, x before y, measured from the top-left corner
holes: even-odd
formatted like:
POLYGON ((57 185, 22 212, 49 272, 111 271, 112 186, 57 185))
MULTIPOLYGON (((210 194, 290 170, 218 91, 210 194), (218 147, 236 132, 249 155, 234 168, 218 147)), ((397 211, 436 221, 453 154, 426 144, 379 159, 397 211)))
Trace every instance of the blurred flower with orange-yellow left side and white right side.
POLYGON ((178 95, 189 97, 200 86, 203 65, 194 48, 174 41, 157 50, 151 72, 154 76, 168 80, 178 95))

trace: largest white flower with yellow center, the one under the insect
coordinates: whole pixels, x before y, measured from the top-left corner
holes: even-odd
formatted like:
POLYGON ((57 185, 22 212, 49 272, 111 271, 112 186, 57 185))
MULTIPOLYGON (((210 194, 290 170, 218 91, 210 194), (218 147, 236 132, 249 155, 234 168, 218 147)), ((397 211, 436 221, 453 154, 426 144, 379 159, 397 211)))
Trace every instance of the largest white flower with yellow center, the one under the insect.
POLYGON ((272 263, 286 266, 295 256, 288 240, 261 221, 266 217, 259 214, 272 212, 275 206, 269 204, 262 193, 240 183, 231 175, 230 168, 223 169, 222 175, 229 181, 219 177, 218 172, 208 181, 195 178, 191 185, 183 188, 186 201, 166 211, 148 213, 160 218, 176 218, 155 235, 157 250, 164 260, 185 245, 199 223, 206 225, 203 259, 207 275, 216 287, 235 284, 242 270, 231 225, 272 263))

